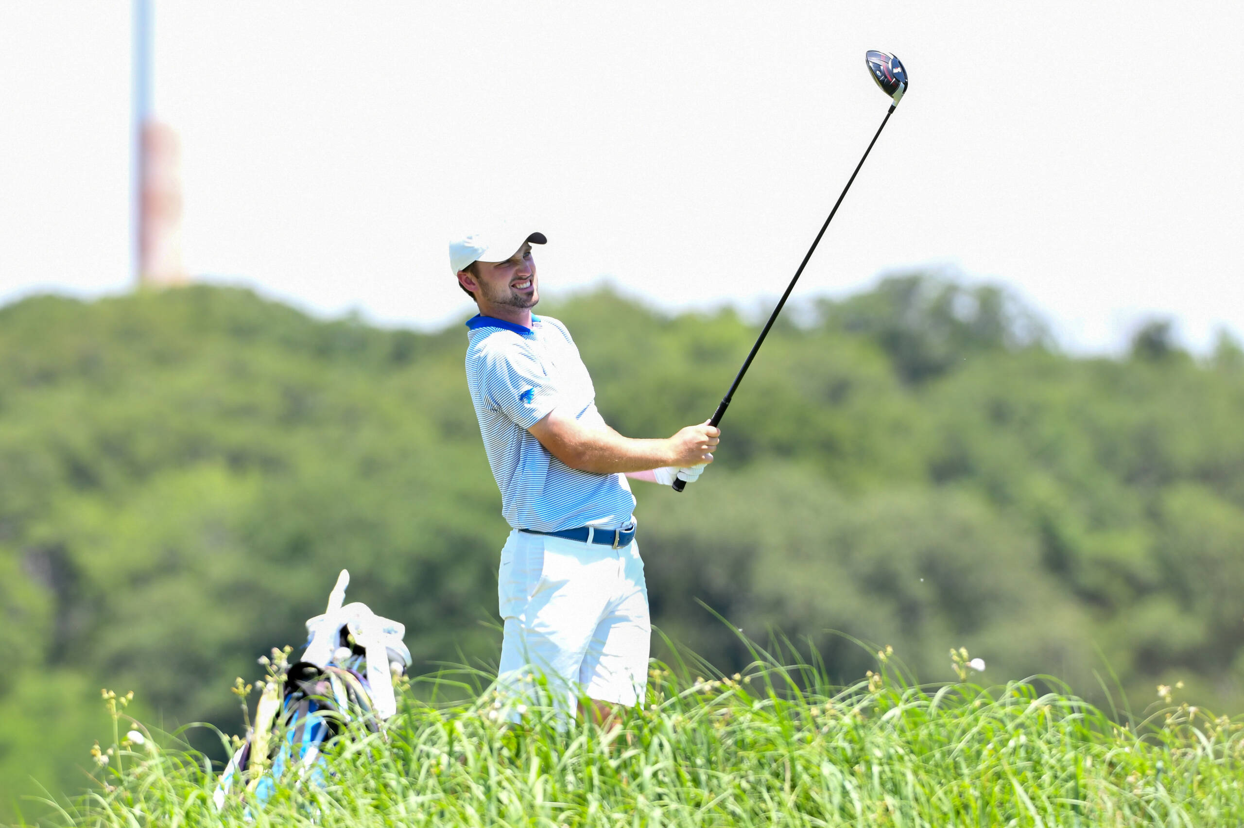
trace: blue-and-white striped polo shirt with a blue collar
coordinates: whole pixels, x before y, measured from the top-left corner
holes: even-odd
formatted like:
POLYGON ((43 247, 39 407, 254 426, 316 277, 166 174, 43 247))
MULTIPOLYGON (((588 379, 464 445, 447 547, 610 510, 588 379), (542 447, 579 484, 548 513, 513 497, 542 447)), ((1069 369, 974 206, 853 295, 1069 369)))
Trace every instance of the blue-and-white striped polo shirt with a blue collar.
POLYGON ((626 526, 634 510, 626 475, 571 469, 527 431, 555 408, 606 428, 566 326, 547 316, 532 316, 530 328, 475 316, 466 328, 466 384, 510 526, 537 532, 626 526))

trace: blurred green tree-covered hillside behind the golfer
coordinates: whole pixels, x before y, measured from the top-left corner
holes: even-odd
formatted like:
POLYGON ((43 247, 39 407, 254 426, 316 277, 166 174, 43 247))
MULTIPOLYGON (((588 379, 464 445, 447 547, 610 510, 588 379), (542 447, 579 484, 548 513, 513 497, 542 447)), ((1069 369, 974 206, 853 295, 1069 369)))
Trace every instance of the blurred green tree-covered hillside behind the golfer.
MULTIPOLYGON (((545 308, 541 307, 541 311, 545 308)), ((1072 358, 1005 291, 907 275, 780 323, 675 496, 636 484, 656 623, 723 670, 748 635, 945 653, 985 679, 1157 683, 1244 710, 1244 351, 1168 323, 1072 358), (837 630, 840 634, 830 633, 837 630), (1108 670, 1107 670, 1108 665, 1108 670), (1108 675, 1113 671, 1115 676, 1108 675)), ((602 290, 550 303, 623 434, 707 418, 755 336, 602 290)), ((81 787, 98 688, 172 730, 239 725, 224 689, 301 645, 336 573, 407 624, 417 671, 495 658, 508 527, 458 326, 322 322, 193 286, 0 308, 0 814, 81 787)))

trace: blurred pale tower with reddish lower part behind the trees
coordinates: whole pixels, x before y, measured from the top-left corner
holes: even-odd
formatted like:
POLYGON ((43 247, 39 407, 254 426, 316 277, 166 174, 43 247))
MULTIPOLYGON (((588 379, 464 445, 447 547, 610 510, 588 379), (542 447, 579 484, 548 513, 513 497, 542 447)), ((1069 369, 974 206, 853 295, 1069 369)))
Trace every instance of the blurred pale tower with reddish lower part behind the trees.
POLYGON ((152 112, 153 0, 133 0, 133 270, 137 286, 182 285, 182 177, 177 133, 152 112))

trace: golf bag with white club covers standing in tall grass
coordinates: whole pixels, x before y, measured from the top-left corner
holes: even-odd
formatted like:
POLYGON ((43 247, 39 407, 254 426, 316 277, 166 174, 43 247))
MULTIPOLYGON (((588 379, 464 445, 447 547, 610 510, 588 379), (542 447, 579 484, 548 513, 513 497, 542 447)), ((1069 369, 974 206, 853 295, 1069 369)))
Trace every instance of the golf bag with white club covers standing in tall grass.
POLYGON ((296 775, 291 783, 323 784, 323 746, 352 721, 381 731, 397 711, 393 680, 411 666, 406 627, 366 604, 342 605, 348 584, 342 569, 327 610, 307 619, 302 658, 265 686, 246 740, 220 775, 213 796, 218 808, 234 786, 267 802, 287 773, 296 775))

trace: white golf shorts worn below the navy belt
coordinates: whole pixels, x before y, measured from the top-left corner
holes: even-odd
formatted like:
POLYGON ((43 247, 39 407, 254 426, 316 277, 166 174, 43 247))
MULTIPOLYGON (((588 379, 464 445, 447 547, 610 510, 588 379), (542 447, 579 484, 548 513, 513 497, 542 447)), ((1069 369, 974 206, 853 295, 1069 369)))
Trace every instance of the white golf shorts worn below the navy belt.
POLYGON ((496 592, 505 623, 503 689, 516 688, 534 668, 567 711, 580 695, 626 706, 643 701, 652 622, 633 540, 615 550, 511 531, 496 592))

